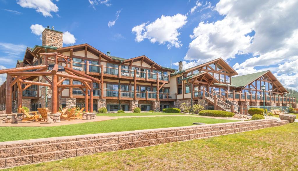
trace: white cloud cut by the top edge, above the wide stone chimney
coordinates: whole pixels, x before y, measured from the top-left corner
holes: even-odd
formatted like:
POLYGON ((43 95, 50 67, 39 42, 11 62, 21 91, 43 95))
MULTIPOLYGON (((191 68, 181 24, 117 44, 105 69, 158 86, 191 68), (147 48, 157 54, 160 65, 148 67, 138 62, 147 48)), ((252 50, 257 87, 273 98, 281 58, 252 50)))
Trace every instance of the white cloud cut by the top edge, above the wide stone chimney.
POLYGON ((36 12, 42 13, 45 17, 53 17, 51 12, 58 12, 57 5, 51 0, 18 0, 17 4, 24 8, 36 9, 36 12))

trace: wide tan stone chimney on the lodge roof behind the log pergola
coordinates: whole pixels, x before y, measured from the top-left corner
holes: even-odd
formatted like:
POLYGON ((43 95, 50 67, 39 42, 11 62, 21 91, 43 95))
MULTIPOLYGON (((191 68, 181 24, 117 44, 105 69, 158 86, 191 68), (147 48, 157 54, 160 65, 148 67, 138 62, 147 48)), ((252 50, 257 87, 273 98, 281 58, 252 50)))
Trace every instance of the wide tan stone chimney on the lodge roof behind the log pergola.
POLYGON ((48 26, 42 32, 42 46, 63 47, 63 32, 55 30, 54 26, 52 29, 48 26))

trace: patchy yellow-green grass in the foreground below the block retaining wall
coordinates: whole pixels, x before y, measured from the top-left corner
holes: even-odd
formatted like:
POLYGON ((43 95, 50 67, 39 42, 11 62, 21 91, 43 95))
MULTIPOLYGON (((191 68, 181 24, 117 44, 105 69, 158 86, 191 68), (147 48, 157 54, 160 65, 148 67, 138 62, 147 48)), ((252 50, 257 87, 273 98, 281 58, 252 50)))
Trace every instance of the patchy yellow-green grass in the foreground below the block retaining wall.
POLYGON ((291 123, 7 170, 298 170, 295 139, 298 139, 298 123, 291 123))

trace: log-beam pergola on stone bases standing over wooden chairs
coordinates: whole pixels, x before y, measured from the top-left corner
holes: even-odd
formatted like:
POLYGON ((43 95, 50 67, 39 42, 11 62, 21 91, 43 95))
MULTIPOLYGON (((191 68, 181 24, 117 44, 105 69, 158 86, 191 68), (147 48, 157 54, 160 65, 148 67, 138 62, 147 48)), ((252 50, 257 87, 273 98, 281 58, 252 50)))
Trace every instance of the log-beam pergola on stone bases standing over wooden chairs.
POLYGON ((0 74, 7 74, 7 88, 6 88, 6 114, 11 114, 12 112, 12 86, 17 83, 18 85, 18 113, 22 108, 22 98, 23 91, 29 88, 31 85, 47 86, 52 89, 52 113, 56 113, 59 109, 59 94, 65 88, 80 88, 85 92, 85 111, 93 111, 93 83, 100 83, 99 79, 91 77, 82 72, 76 71, 70 67, 72 64, 72 59, 70 57, 64 56, 57 52, 53 53, 41 53, 44 55, 44 65, 38 66, 24 66, 19 68, 2 69, 0 74), (64 64, 64 65, 63 65, 64 64), (27 71, 37 69, 36 71, 27 71), (63 73, 64 72, 64 73, 63 73), (67 74, 66 74, 67 73, 67 74), (31 76, 41 76, 48 83, 42 83, 38 81, 25 80, 31 76), (50 80, 46 76, 51 76, 50 80), (69 85, 62 84, 64 80, 69 79, 69 85), (78 80, 83 84, 73 85, 72 80, 78 80), (22 88, 22 84, 26 84, 22 88), (85 88, 85 90, 83 89, 85 88), (90 108, 88 110, 88 90, 90 90, 90 108))

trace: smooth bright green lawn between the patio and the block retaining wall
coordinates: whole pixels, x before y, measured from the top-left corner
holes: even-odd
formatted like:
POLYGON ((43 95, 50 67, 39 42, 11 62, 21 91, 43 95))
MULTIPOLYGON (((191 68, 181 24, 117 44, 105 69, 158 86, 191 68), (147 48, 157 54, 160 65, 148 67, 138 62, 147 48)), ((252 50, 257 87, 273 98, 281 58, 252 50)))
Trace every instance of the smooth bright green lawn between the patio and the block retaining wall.
POLYGON ((235 120, 211 119, 190 116, 164 116, 119 118, 101 122, 87 122, 54 127, 0 127, 0 142, 57 136, 188 126, 192 125, 193 122, 204 122, 206 124, 213 124, 222 122, 235 122, 235 120))

